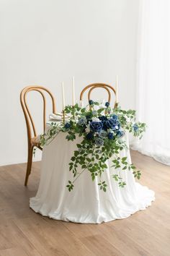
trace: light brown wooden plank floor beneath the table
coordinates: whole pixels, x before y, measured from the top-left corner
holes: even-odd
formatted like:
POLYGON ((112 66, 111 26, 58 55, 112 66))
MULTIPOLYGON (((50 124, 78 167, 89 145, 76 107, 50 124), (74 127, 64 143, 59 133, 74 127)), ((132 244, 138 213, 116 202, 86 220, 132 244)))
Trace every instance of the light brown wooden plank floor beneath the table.
POLYGON ((40 179, 34 163, 28 187, 26 164, 0 167, 0 255, 170 255, 170 167, 132 152, 141 184, 156 192, 147 210, 102 224, 54 221, 29 208, 40 179))

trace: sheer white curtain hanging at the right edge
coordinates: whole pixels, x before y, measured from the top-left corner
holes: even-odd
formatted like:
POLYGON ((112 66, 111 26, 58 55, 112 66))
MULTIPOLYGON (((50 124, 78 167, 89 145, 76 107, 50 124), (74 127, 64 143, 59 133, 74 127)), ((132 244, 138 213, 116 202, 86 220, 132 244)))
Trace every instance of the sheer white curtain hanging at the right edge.
POLYGON ((138 35, 138 119, 148 125, 133 148, 170 165, 170 1, 141 0, 138 35))

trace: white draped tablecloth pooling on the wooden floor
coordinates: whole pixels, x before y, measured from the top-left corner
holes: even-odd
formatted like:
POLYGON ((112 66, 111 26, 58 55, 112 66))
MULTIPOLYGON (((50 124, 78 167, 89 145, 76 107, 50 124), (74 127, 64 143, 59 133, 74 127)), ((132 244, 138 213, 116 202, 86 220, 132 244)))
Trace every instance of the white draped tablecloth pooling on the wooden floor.
MULTIPOLYGON (((112 178, 117 170, 107 161, 107 169, 102 179, 108 184, 107 192, 99 190, 98 179, 91 181, 89 171, 84 171, 74 183, 73 191, 68 192, 68 180, 73 174, 68 170, 76 144, 66 140, 66 134, 60 133, 42 152, 40 185, 35 197, 30 198, 30 208, 42 216, 56 220, 77 223, 102 223, 127 218, 138 210, 144 210, 154 200, 154 192, 135 182, 131 171, 121 171, 125 187, 118 187, 112 178)), ((128 135, 125 136, 128 143, 128 135)), ((122 156, 128 156, 129 150, 123 150, 122 156)), ((81 169, 79 170, 81 171, 81 169)))

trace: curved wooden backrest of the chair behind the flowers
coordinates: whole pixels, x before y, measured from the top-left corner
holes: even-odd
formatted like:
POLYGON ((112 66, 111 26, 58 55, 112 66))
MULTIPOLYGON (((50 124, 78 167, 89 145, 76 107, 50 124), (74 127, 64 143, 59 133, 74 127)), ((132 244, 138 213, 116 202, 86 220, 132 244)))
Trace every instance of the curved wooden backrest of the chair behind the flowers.
MULTIPOLYGON (((88 100, 90 100, 90 96, 91 96, 91 92, 92 90, 96 89, 96 88, 104 88, 104 90, 107 90, 107 93, 108 93, 108 102, 110 103, 111 101, 111 93, 110 93, 110 90, 112 90, 112 92, 116 95, 116 91, 115 89, 111 86, 111 85, 107 85, 107 84, 104 84, 102 82, 97 82, 97 83, 94 83, 94 84, 91 84, 91 85, 87 85, 82 91, 81 91, 81 94, 80 94, 80 101, 82 101, 82 98, 83 98, 83 95, 85 93, 86 90, 89 89, 89 93, 88 93, 88 100)), ((115 106, 115 104, 114 104, 115 106)))

